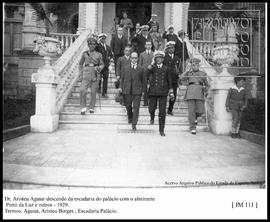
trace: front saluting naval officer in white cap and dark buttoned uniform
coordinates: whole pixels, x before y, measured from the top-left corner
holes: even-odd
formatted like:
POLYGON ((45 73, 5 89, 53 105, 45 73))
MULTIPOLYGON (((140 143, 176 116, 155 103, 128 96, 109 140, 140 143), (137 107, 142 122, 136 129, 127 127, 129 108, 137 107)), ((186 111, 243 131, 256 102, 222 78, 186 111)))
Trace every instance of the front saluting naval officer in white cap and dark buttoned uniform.
POLYGON ((165 119, 166 119, 166 103, 167 96, 173 97, 172 80, 168 67, 163 65, 165 53, 156 51, 154 53, 154 60, 148 66, 148 81, 149 81, 149 113, 150 124, 154 124, 155 110, 159 104, 159 133, 165 136, 165 119))

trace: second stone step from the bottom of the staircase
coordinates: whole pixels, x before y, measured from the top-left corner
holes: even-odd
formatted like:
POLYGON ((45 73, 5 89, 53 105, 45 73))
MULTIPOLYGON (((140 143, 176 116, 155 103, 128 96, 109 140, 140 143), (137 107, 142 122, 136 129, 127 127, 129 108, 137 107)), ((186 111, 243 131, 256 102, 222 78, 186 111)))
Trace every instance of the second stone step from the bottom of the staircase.
MULTIPOLYGON (((156 115, 156 119, 158 119, 156 115)), ((86 113, 85 115, 81 115, 80 113, 74 112, 61 112, 60 120, 80 120, 80 121, 90 121, 93 123, 108 123, 108 124, 118 124, 118 123, 127 123, 127 115, 125 113, 122 114, 90 114, 86 113)), ((140 114, 139 115, 139 123, 149 123, 150 115, 148 114, 140 114)), ((166 122, 168 124, 179 124, 185 123, 188 124, 188 116, 185 114, 176 114, 174 116, 166 116, 166 122)), ((198 122, 205 122, 203 118, 199 118, 198 122)))

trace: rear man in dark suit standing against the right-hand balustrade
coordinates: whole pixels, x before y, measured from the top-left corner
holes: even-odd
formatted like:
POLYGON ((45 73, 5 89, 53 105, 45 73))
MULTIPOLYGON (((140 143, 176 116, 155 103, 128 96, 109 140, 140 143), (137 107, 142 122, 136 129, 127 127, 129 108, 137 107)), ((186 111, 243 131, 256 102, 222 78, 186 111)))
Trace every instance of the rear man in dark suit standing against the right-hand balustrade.
POLYGON ((181 73, 185 70, 185 64, 186 61, 189 59, 188 50, 187 50, 187 44, 184 41, 185 39, 185 32, 183 30, 180 30, 178 32, 178 48, 175 48, 175 55, 177 55, 181 60, 181 73))

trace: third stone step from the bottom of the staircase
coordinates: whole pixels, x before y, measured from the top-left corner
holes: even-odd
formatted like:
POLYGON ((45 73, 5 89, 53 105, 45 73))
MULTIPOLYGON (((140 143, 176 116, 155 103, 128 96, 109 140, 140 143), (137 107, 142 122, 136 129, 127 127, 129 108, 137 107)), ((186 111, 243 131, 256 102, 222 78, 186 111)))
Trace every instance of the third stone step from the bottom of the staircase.
MULTIPOLYGON (((121 106, 118 104, 118 106, 101 106, 98 107, 96 106, 95 108, 96 110, 96 113, 113 113, 113 114, 121 114, 121 113, 126 113, 126 108, 124 106, 121 106)), ((64 105, 63 107, 63 112, 81 112, 81 108, 80 108, 80 105, 79 104, 66 104, 64 105)), ((156 111, 158 112, 158 111, 156 111)), ((187 114, 187 108, 178 108, 177 106, 174 107, 174 110, 173 112, 175 114, 187 114)), ((145 106, 141 106, 140 107, 140 114, 149 114, 149 111, 148 111, 148 107, 145 107, 145 106)))

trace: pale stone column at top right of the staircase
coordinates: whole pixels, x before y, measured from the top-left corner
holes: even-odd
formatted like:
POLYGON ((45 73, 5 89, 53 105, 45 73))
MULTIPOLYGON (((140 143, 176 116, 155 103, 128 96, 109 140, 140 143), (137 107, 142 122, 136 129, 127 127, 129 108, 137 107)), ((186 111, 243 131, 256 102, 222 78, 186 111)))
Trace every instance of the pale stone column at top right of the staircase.
POLYGON ((183 29, 187 32, 189 3, 171 3, 171 20, 175 33, 183 29))

